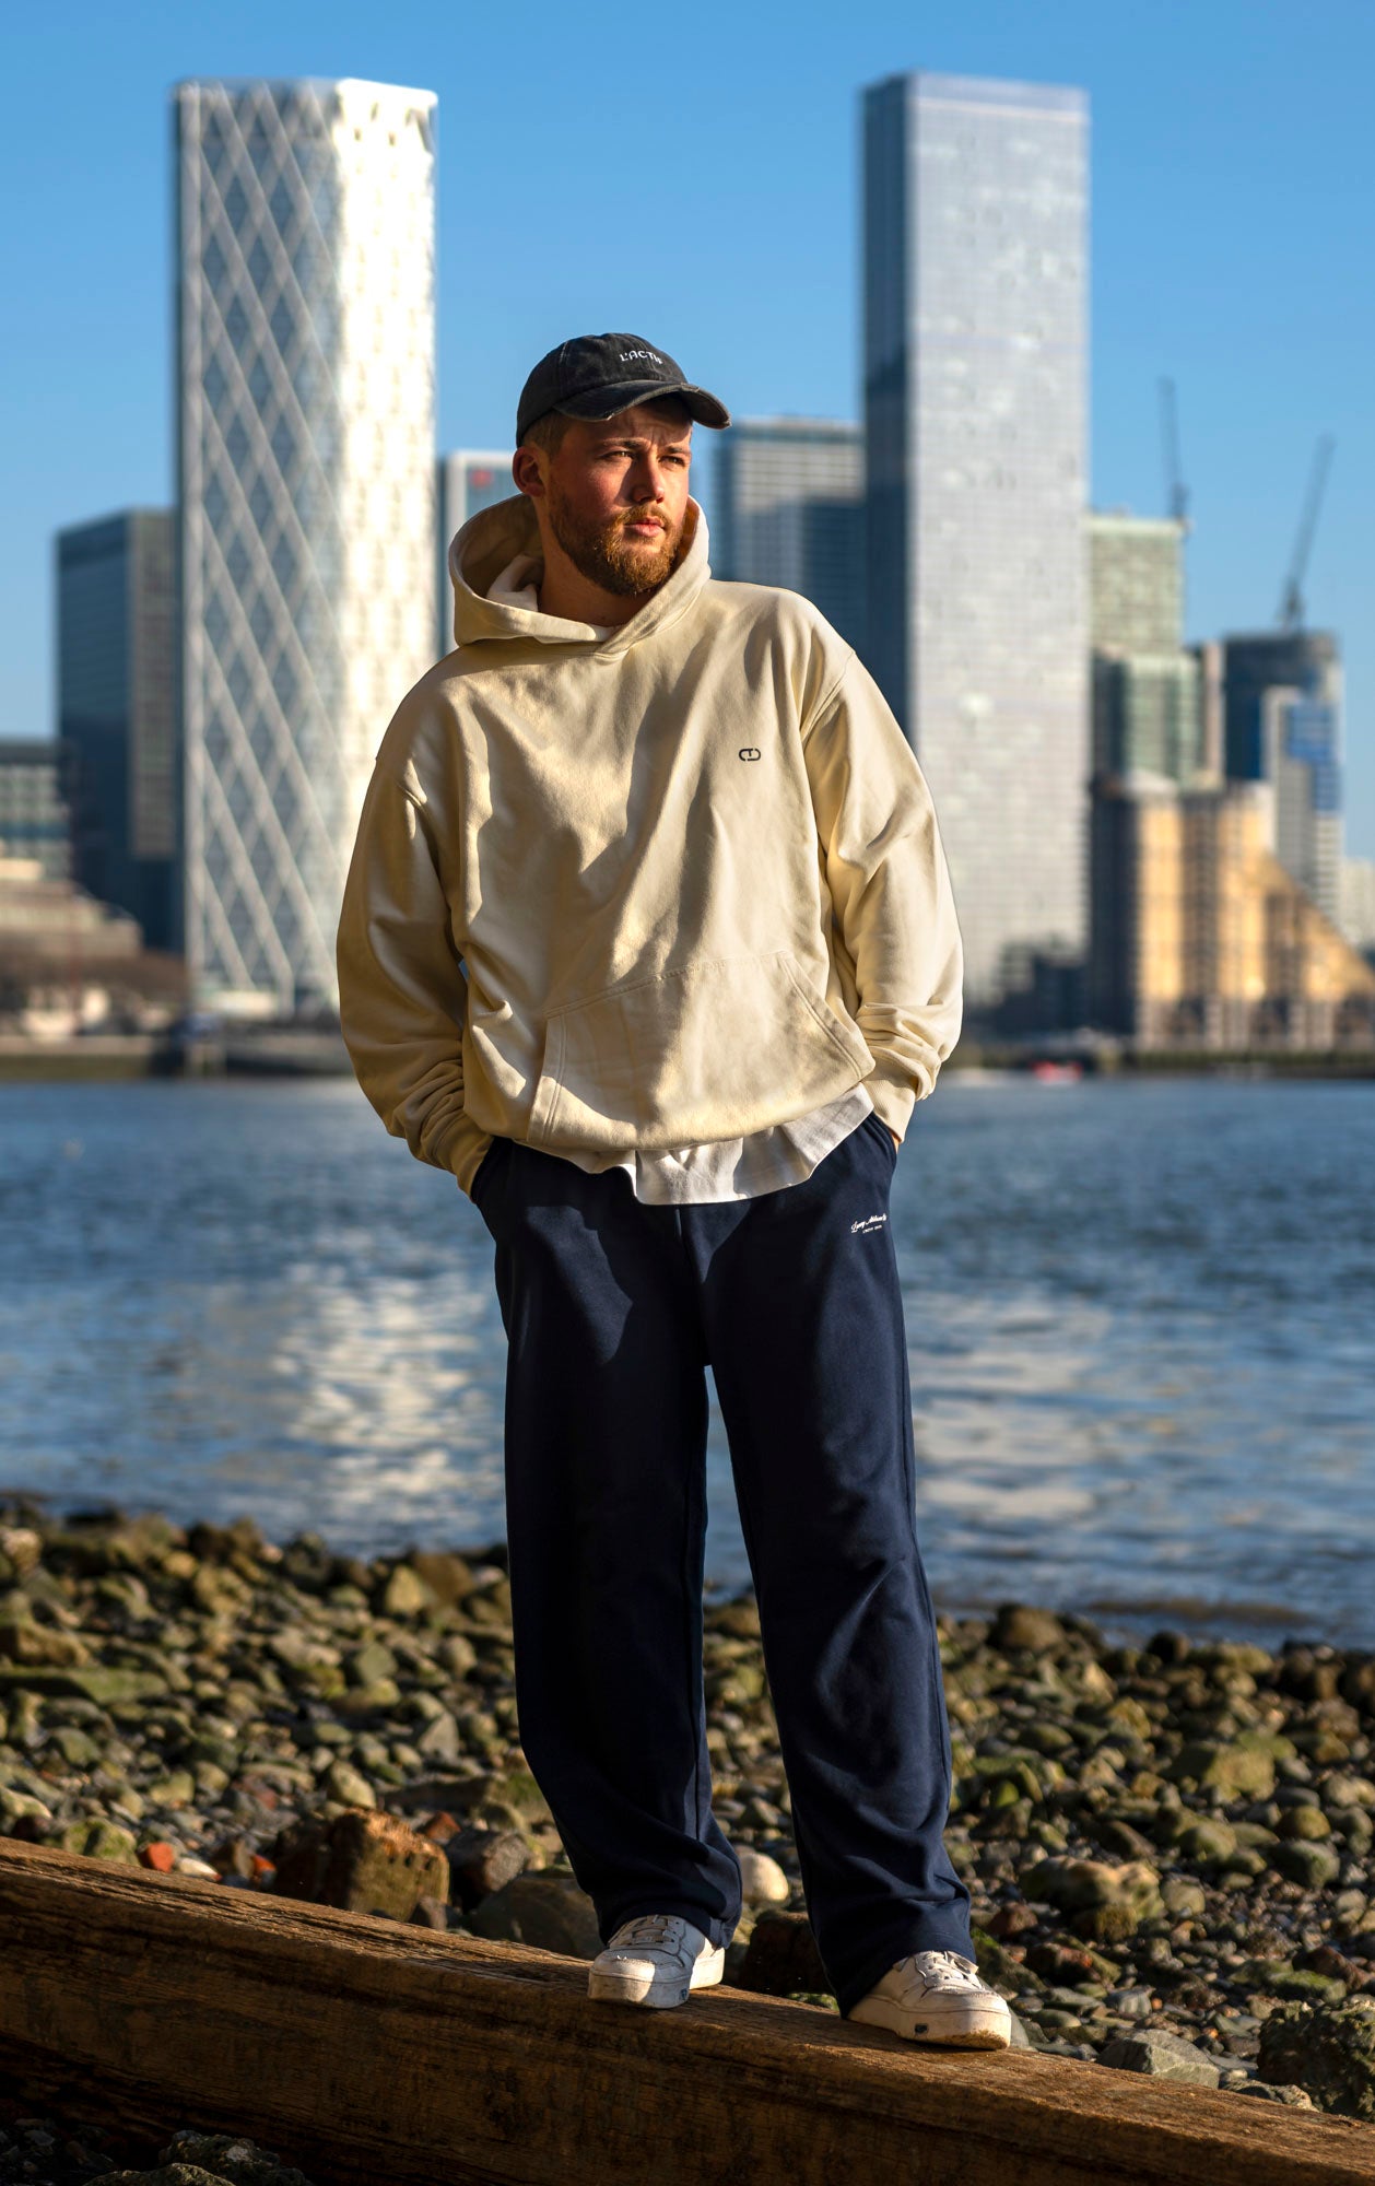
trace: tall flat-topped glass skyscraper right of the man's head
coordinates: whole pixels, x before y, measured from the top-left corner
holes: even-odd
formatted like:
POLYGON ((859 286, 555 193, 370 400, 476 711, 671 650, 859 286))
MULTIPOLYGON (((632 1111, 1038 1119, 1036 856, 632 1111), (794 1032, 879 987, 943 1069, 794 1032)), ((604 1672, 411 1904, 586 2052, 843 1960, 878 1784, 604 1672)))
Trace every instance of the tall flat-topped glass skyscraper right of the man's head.
POLYGON ((975 1010, 1084 947, 1089 105, 863 101, 866 658, 936 794, 975 1010))

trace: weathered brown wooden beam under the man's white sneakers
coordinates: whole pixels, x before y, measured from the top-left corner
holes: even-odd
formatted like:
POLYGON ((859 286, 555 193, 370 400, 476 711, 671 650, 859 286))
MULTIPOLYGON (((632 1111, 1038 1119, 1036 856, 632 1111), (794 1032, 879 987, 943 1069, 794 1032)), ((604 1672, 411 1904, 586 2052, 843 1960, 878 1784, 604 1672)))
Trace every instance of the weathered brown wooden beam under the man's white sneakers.
POLYGON ((319 2186, 1355 2186, 1375 2129, 0 1843, 24 2101, 245 2131, 319 2186))

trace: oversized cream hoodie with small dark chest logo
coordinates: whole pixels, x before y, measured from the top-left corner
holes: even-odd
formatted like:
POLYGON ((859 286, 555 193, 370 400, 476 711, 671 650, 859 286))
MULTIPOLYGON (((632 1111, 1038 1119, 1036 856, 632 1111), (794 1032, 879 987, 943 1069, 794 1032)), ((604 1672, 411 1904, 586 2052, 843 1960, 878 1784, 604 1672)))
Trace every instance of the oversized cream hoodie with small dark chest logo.
POLYGON ((700 1145, 859 1080, 901 1135, 960 1032, 901 728, 809 601, 710 581, 689 525, 638 614, 581 634, 485 597, 538 533, 522 496, 483 509, 450 549, 459 649, 383 739, 343 1038, 387 1130, 463 1189, 494 1135, 700 1145))

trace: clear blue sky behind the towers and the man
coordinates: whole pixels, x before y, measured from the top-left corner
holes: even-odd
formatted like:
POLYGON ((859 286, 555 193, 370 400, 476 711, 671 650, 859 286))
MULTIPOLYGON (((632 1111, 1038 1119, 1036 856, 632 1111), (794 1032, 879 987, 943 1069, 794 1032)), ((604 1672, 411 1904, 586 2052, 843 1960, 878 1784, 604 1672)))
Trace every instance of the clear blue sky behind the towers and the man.
POLYGON ((50 728, 52 531, 171 496, 179 77, 439 94, 439 439, 501 446, 533 359, 601 326, 741 413, 855 415, 857 92, 931 68, 1091 94, 1093 498, 1163 507, 1172 374, 1194 636, 1268 625, 1336 433, 1307 601, 1344 638, 1347 846, 1375 857, 1375 0, 66 0, 7 63, 0 734, 50 728))

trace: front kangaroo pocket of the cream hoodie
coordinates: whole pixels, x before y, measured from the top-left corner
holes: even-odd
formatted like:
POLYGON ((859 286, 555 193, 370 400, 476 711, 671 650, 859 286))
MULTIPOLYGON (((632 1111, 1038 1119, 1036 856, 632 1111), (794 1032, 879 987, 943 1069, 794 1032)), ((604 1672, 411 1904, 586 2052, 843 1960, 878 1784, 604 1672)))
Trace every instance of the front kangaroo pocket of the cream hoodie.
POLYGON ((870 1069, 859 1030, 791 955, 719 957, 551 1016, 529 1143, 660 1152, 748 1137, 870 1069))

